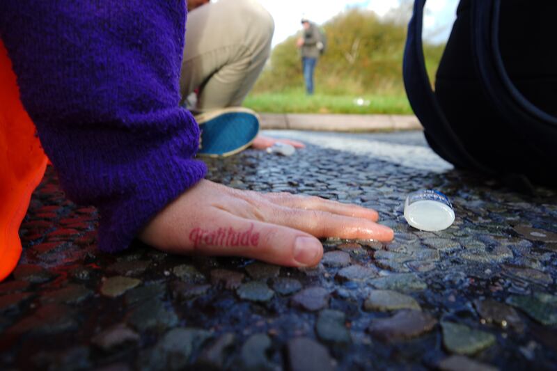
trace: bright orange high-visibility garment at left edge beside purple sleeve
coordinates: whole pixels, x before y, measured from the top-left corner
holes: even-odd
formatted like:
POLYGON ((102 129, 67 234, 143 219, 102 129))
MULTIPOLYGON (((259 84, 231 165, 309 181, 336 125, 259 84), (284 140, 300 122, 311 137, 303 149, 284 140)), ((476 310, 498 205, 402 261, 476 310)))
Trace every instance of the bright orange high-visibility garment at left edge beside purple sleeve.
POLYGON ((0 281, 13 271, 22 253, 19 226, 47 167, 35 133, 0 40, 0 281))

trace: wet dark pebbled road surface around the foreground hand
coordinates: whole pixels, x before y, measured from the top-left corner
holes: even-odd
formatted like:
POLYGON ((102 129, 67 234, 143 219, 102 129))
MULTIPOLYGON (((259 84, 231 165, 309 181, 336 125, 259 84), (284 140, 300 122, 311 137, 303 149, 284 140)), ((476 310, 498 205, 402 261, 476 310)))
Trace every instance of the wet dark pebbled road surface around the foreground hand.
POLYGON ((556 369, 555 191, 516 194, 431 154, 435 171, 325 147, 207 162, 231 187, 373 207, 395 229, 390 244, 323 240, 313 269, 100 253, 97 211, 65 200, 49 168, 0 283, 0 369, 556 369), (421 188, 453 200, 448 230, 405 222, 421 188))

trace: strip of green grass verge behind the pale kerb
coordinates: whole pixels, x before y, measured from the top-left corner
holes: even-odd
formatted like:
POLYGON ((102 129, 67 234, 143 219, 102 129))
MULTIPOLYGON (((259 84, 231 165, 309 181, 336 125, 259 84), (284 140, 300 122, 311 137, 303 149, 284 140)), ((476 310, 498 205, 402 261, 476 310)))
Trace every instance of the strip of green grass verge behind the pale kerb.
POLYGON ((411 114, 406 95, 329 95, 307 96, 303 91, 252 93, 244 106, 264 113, 383 113, 411 114), (356 104, 362 98, 364 105, 356 104))

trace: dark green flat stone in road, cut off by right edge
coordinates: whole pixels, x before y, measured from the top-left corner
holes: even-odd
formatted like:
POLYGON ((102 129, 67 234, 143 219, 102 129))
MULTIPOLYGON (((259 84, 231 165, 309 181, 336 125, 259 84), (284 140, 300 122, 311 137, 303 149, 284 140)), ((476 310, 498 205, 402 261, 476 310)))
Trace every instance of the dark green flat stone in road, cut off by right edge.
POLYGON ((507 299, 511 306, 519 308, 541 324, 557 324, 557 297, 549 294, 534 293, 532 296, 512 296, 507 299))

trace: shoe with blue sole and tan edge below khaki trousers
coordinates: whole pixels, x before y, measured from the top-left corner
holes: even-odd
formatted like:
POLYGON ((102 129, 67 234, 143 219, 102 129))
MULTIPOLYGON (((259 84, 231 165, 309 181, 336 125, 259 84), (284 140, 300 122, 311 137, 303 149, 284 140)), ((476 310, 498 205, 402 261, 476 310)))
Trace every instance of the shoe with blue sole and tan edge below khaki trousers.
POLYGON ((248 148, 259 132, 259 116, 251 109, 230 107, 194 116, 201 129, 198 155, 227 157, 248 148))

